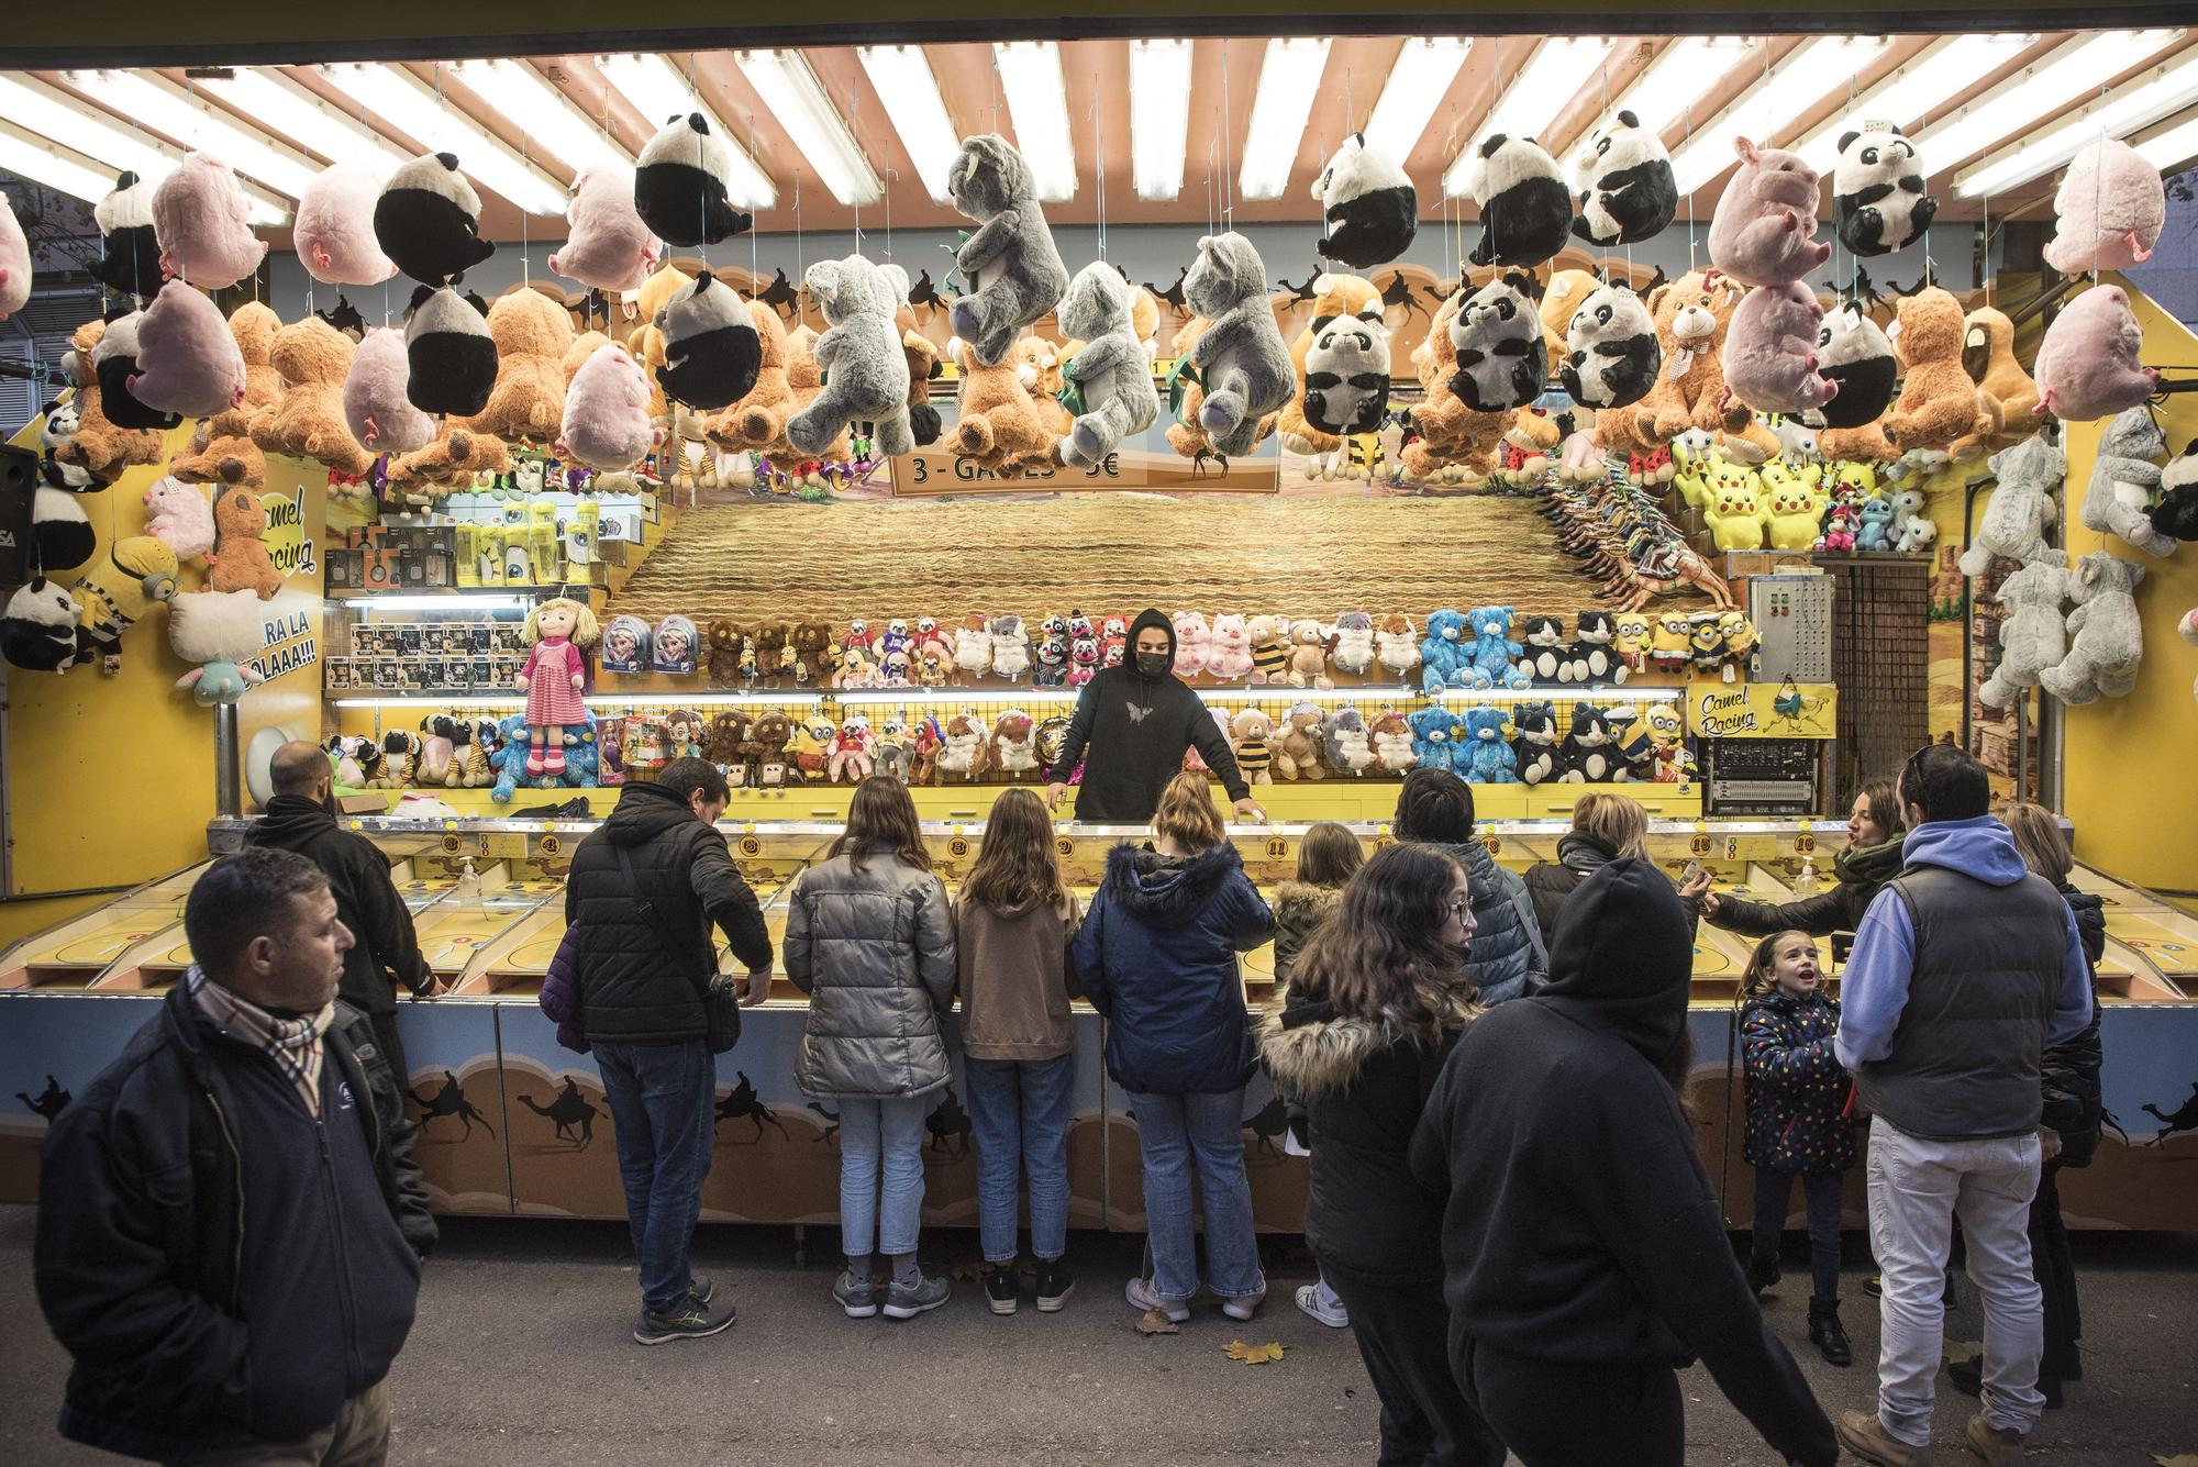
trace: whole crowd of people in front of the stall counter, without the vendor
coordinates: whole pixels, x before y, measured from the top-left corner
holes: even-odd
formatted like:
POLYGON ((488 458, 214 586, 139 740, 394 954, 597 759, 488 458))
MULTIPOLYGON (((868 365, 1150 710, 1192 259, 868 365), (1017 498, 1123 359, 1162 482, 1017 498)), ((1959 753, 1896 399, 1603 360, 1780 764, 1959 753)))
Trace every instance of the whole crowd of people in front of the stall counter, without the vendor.
MULTIPOLYGON (((415 949, 391 931, 356 960, 349 918, 376 920, 380 896, 360 892, 371 881, 334 821, 319 830, 325 773, 277 758, 277 786, 290 804, 189 894, 189 977, 44 1149, 37 1287, 75 1357, 62 1430, 158 1460, 380 1460, 385 1375, 435 1241, 393 1039, 338 1001, 367 968, 418 979, 415 949)), ((1165 784, 1152 839, 1112 850, 1088 909, 1044 802, 1004 791, 950 896, 908 788, 873 777, 793 881, 776 953, 714 830, 725 799, 703 760, 620 793, 574 856, 545 988, 567 1043, 596 1054, 615 1120, 642 1344, 736 1318, 688 1245, 714 1054, 778 964, 809 995, 793 1080, 840 1118, 831 1296, 855 1318, 908 1320, 952 1296, 919 1263, 919 1214, 923 1122, 956 1028, 987 1302, 1020 1302, 1024 1179, 1035 1304, 1068 1302, 1084 997, 1106 1017, 1143 1162, 1147 1267, 1125 1302, 1167 1320, 1200 1296, 1233 1320, 1262 1307, 1242 1118, 1264 1067, 1310 1146, 1321 1276, 1299 1304, 1352 1331, 1383 1463, 1681 1463, 1690 1359, 1783 1460, 1829 1465, 1842 1445, 1923 1460, 1954 1221, 1985 1309, 1983 1362, 1954 1377, 1983 1399, 1969 1449, 2020 1460, 2079 1375, 2053 1177, 2097 1144, 2099 909, 2066 883, 2057 821, 2035 806, 1994 817, 1983 766, 1958 749, 1868 784, 1833 889, 1785 907, 1714 894, 1701 874, 1675 887, 1646 854, 1642 808, 1600 793, 1558 859, 1521 878, 1475 839, 1470 786, 1431 769, 1405 780, 1396 843, 1369 859, 1350 830, 1314 826, 1273 907, 1205 775, 1165 784), (1686 1096, 1697 918, 1761 933, 1736 1015, 1756 1168, 1745 1265, 1686 1096), (717 975, 712 929, 745 982, 717 975), (1842 1004, 1816 936, 1846 929, 1842 1004), (1268 940, 1277 993, 1248 1012, 1240 953, 1268 940), (1809 1337, 1849 1364, 1840 1190, 1857 1155, 1881 1274, 1879 1401, 1831 1421, 1756 1296, 1778 1280, 1800 1177, 1809 1337)))

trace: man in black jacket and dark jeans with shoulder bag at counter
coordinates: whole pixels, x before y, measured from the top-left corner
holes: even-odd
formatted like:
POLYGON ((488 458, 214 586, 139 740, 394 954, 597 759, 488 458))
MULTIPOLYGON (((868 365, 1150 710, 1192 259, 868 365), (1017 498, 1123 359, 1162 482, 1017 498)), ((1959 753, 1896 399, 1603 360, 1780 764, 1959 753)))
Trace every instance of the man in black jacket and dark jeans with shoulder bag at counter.
POLYGON ((565 920, 580 927, 580 1006, 618 1129, 626 1225, 640 1263, 642 1344, 732 1326, 732 1304, 688 1269, 717 1129, 717 1061, 703 993, 717 975, 714 922, 747 968, 743 1004, 771 990, 771 936, 732 865, 717 817, 725 775, 673 760, 626 784, 602 830, 580 841, 565 920))

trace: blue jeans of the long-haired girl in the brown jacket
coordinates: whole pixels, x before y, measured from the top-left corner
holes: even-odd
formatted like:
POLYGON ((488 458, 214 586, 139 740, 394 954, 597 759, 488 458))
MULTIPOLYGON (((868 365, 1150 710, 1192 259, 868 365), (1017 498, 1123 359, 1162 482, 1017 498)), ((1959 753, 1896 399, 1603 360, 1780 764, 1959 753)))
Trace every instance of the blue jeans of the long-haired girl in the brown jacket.
POLYGON ((1068 1252, 1068 1085, 1075 1054, 965 1063, 976 1129, 976 1214, 985 1263, 1015 1261, 1015 1179, 1031 1171, 1031 1252, 1068 1252), (1020 1164, 1020 1166, 1018 1166, 1020 1164))

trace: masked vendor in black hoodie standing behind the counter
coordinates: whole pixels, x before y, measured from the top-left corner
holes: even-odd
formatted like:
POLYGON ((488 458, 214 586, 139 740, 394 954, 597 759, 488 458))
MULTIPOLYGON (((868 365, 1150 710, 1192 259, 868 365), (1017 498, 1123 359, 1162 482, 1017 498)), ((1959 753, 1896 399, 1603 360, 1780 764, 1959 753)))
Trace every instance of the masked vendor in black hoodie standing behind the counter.
POLYGON ((1084 760, 1077 819, 1139 826, 1161 808, 1167 782, 1183 773, 1185 749, 1198 749, 1198 758, 1229 791, 1237 815, 1266 819, 1205 698, 1176 676, 1174 624, 1145 608, 1130 626, 1130 657, 1123 665, 1106 668, 1084 685, 1062 758, 1046 775, 1046 804, 1062 808, 1068 775, 1084 760))

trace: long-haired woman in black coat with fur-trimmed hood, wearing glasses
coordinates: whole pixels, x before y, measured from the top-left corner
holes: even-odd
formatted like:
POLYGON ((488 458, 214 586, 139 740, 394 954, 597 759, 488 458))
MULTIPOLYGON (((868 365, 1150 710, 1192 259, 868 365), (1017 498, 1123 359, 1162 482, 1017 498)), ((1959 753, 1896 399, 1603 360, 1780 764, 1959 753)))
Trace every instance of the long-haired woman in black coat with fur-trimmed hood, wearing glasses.
POLYGON ((1277 1085, 1312 1127, 1306 1241, 1350 1311, 1380 1395, 1380 1460, 1501 1467, 1503 1443, 1446 1366, 1442 1197, 1407 1151, 1442 1061, 1479 1015, 1466 982, 1473 892, 1435 846, 1389 846, 1297 960, 1290 995, 1259 1021, 1277 1085))

